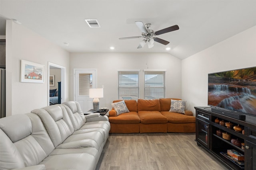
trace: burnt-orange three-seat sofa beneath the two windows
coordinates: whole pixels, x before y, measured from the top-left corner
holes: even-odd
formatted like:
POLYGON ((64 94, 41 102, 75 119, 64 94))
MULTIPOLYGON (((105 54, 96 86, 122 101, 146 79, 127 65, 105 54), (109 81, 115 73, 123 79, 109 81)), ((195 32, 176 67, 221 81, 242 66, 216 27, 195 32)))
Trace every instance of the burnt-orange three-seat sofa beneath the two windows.
MULTIPOLYGON (((130 112, 117 116, 112 108, 109 111, 109 133, 194 133, 196 118, 192 111, 185 110, 185 114, 169 112, 171 99, 180 100, 124 100, 130 112)), ((122 100, 114 100, 113 103, 120 101, 122 100)))

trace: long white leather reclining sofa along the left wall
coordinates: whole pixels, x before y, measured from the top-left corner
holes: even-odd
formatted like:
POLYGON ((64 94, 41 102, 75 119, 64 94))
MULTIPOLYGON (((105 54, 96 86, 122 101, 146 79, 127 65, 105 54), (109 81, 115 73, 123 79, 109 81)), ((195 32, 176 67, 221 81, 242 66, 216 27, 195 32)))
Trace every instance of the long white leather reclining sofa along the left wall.
POLYGON ((0 119, 0 170, 94 170, 108 139, 107 116, 77 102, 0 119))

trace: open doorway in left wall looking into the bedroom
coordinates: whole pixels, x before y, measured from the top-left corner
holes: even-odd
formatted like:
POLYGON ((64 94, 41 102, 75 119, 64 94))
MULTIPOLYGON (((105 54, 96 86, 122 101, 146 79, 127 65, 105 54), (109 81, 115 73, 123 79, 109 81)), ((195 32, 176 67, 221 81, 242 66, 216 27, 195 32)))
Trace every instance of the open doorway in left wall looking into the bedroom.
POLYGON ((66 67, 58 64, 48 62, 48 106, 50 105, 50 90, 60 90, 60 102, 63 103, 65 99, 65 72, 66 67), (51 80, 50 80, 51 79, 51 80), (54 82, 53 82, 54 81, 54 82), (60 83, 58 83, 60 82, 60 83), (60 88, 58 87, 60 84, 60 88))

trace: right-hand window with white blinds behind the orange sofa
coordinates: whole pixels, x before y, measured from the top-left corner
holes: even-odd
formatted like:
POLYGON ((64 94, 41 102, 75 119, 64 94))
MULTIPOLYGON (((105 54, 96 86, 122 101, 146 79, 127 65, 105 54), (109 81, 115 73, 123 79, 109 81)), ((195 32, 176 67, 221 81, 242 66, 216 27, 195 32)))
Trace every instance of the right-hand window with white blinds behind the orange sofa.
POLYGON ((144 99, 165 98, 165 72, 144 71, 144 99))

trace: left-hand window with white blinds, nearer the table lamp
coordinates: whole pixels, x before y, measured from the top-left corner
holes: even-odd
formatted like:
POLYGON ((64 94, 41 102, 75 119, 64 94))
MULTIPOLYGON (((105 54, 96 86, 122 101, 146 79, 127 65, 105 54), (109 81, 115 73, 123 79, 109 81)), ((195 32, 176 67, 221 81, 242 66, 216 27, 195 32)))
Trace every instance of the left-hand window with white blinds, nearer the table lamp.
POLYGON ((139 71, 118 71, 118 99, 138 100, 139 71))

